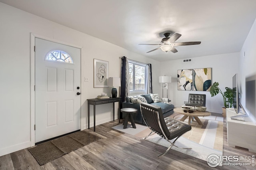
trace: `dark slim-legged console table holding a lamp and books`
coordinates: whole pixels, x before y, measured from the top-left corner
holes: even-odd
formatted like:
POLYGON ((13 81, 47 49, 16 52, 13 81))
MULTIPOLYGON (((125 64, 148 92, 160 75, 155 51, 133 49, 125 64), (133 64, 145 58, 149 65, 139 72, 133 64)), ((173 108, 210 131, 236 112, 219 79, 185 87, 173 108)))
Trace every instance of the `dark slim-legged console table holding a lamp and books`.
MULTIPOLYGON (((113 121, 115 120, 115 102, 118 102, 120 105, 121 97, 109 99, 87 99, 88 100, 88 128, 90 128, 90 105, 93 105, 93 121, 94 121, 94 131, 95 131, 95 110, 96 105, 102 105, 106 103, 113 103, 113 121)), ((120 118, 119 118, 120 120, 120 118)))

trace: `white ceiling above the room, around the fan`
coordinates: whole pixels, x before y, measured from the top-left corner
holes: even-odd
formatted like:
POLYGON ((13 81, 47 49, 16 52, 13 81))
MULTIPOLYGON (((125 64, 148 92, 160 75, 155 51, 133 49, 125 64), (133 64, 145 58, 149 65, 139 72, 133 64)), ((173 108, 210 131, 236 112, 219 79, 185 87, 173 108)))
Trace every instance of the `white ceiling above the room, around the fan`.
POLYGON ((158 61, 239 52, 256 18, 256 0, 0 0, 5 4, 158 61), (179 33, 177 53, 158 46, 179 33))

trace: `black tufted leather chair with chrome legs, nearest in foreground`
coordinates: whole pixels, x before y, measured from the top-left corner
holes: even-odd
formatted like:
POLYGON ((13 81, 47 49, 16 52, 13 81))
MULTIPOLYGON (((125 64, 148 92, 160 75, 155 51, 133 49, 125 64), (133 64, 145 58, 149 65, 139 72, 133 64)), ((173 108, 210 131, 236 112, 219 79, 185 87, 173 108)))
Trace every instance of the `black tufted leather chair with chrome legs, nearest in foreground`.
MULTIPOLYGON (((155 132, 156 134, 158 134, 159 136, 161 136, 171 144, 170 147, 164 153, 158 156, 163 156, 164 154, 166 154, 166 152, 168 152, 168 150, 172 146, 175 146, 174 143, 180 136, 182 136, 182 134, 191 130, 190 125, 187 125, 175 119, 170 119, 169 117, 164 118, 162 114, 162 109, 160 107, 150 105, 148 103, 141 103, 140 111, 141 111, 142 118, 145 124, 148 126, 148 128, 150 128, 152 132, 155 132), (176 138, 174 142, 171 142, 170 140, 174 138, 176 138)), ((150 134, 152 134, 152 132, 150 132, 150 134)), ((148 136, 150 136, 150 134, 148 134, 148 136)), ((146 136, 141 140, 148 138, 148 136, 146 136)), ((191 148, 184 148, 184 149, 191 149, 191 148)))

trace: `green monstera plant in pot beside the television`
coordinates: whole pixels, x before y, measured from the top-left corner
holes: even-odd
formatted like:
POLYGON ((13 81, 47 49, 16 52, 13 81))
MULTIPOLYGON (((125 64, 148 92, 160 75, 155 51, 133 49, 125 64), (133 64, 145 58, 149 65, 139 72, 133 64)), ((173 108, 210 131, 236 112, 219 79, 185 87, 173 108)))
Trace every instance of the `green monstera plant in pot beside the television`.
POLYGON ((218 93, 222 94, 224 101, 224 107, 222 107, 223 117, 226 117, 226 108, 232 107, 233 105, 233 89, 225 87, 226 91, 222 93, 218 85, 218 82, 214 82, 212 84, 212 87, 210 88, 210 94, 212 95, 212 97, 217 95, 218 93))

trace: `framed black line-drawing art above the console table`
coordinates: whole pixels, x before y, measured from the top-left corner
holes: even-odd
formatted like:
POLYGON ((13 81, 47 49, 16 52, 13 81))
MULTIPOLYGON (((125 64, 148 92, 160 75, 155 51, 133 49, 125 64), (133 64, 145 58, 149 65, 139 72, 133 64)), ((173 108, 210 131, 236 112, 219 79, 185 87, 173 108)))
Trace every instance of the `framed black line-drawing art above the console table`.
POLYGON ((108 61, 94 59, 94 88, 108 87, 108 61))

